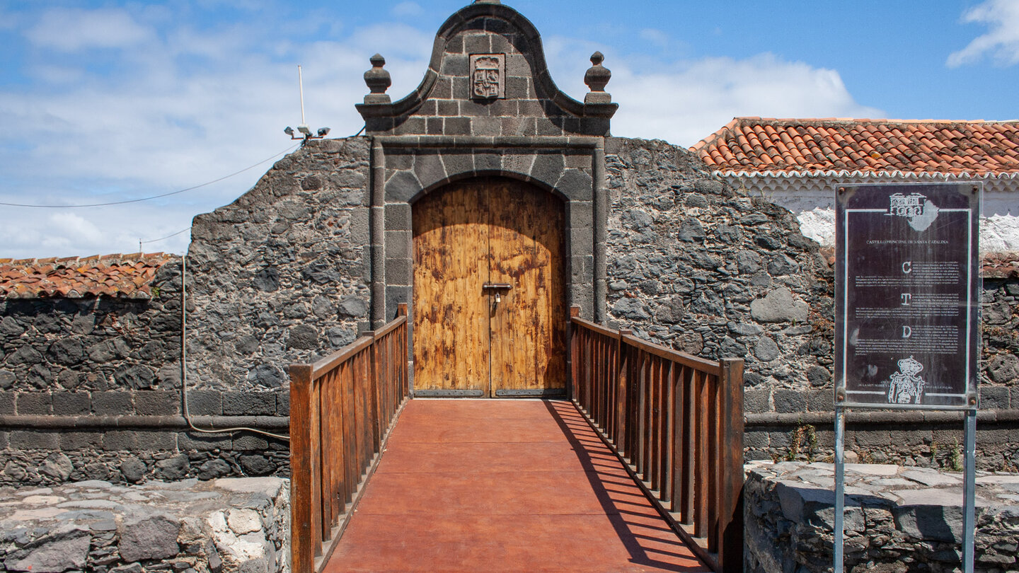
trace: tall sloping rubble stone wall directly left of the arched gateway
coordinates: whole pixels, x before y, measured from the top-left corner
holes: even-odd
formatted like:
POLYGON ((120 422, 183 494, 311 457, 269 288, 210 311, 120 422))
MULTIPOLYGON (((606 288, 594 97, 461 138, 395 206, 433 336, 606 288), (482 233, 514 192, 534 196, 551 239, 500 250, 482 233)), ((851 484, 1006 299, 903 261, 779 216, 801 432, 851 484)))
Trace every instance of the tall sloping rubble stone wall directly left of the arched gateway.
POLYGON ((233 203, 195 217, 189 249, 193 387, 286 386, 368 328, 367 138, 312 140, 233 203))

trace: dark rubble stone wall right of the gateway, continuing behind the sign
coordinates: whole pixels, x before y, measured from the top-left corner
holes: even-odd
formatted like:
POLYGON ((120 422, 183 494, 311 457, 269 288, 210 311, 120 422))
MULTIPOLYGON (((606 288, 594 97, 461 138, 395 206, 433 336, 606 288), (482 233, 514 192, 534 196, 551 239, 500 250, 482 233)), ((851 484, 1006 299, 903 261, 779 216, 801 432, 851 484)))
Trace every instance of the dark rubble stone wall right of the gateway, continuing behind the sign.
MULTIPOLYGON (((711 176, 659 141, 606 144, 609 318, 709 359, 745 357, 747 458, 828 459, 834 449, 834 270, 783 207, 711 176), (808 439, 809 436, 809 439, 808 439)), ((978 463, 1017 469, 1019 279, 984 280, 978 463)), ((957 415, 853 413, 850 455, 950 467, 957 415)))

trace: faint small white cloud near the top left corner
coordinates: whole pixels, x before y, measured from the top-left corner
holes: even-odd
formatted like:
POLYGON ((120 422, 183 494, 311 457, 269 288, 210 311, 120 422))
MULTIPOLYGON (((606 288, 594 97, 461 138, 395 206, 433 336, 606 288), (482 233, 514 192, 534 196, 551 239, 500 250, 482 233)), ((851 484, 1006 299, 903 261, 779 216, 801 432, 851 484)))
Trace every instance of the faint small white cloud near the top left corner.
POLYGON ((144 42, 152 31, 121 9, 53 8, 43 13, 25 37, 36 46, 63 52, 89 48, 127 48, 144 42))

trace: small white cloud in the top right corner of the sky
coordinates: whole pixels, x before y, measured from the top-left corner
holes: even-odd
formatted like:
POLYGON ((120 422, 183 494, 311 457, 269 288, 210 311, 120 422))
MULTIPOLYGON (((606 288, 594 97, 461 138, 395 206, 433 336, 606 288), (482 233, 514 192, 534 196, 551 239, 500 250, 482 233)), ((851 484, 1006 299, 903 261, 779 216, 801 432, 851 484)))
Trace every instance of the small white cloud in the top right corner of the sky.
POLYGON ((967 10, 963 21, 985 23, 990 30, 949 55, 949 67, 973 63, 984 56, 1002 65, 1019 63, 1019 2, 987 0, 967 10))

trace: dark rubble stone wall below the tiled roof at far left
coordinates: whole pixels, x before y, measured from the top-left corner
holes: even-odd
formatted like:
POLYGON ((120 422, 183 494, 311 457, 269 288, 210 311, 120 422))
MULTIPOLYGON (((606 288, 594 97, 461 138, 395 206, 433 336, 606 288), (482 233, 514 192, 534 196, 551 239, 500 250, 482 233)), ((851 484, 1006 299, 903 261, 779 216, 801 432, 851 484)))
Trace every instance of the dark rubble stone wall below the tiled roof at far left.
POLYGON ((179 260, 160 267, 152 291, 151 300, 0 299, 0 400, 16 398, 22 414, 120 414, 138 395, 145 413, 166 413, 158 393, 180 385, 179 260))

